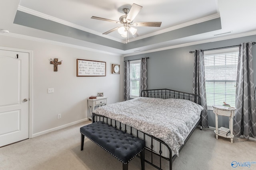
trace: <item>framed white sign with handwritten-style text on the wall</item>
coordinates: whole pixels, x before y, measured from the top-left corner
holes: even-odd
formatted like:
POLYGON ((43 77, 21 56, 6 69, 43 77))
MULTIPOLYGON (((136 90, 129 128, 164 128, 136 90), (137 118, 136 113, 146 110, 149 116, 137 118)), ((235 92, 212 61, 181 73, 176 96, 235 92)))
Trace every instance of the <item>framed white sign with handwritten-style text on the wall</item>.
POLYGON ((106 62, 76 59, 76 76, 106 76, 106 62))

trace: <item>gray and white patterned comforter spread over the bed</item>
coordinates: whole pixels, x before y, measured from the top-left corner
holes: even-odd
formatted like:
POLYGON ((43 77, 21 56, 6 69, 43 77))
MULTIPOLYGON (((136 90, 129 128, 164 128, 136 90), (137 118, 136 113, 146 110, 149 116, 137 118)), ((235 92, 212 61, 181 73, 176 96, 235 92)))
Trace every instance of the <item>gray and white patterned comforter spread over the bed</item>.
POLYGON ((189 100, 140 97, 98 107, 94 113, 161 139, 178 155, 202 110, 202 106, 189 100))

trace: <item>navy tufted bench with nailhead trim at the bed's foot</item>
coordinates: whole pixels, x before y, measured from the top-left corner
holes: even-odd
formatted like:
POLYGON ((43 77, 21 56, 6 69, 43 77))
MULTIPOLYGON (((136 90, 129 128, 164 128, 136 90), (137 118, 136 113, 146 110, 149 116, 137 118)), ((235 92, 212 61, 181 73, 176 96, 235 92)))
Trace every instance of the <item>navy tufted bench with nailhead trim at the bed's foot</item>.
POLYGON ((84 136, 105 149, 123 163, 123 170, 128 170, 130 162, 137 154, 140 153, 142 170, 145 160, 145 141, 134 137, 128 133, 120 131, 102 121, 80 128, 81 133, 81 150, 84 149, 84 136))

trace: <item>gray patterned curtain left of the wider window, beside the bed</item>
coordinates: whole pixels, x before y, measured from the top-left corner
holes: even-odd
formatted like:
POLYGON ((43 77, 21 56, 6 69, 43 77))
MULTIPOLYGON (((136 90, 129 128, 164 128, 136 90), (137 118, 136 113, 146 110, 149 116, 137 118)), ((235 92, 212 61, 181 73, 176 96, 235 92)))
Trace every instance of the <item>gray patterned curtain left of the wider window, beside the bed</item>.
POLYGON ((209 127, 204 77, 204 52, 200 50, 195 50, 194 55, 193 94, 201 97, 201 105, 204 107, 202 111, 202 126, 209 127))

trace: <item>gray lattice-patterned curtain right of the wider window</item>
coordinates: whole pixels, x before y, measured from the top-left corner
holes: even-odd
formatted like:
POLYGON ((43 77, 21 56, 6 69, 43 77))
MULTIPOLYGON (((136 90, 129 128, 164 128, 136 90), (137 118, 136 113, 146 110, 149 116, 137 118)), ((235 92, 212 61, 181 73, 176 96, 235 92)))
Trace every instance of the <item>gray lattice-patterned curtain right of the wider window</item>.
POLYGON ((238 56, 236 78, 236 114, 233 133, 256 138, 256 111, 253 101, 252 42, 242 43, 238 56))

